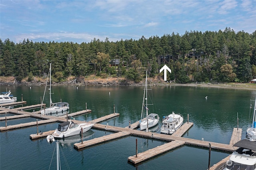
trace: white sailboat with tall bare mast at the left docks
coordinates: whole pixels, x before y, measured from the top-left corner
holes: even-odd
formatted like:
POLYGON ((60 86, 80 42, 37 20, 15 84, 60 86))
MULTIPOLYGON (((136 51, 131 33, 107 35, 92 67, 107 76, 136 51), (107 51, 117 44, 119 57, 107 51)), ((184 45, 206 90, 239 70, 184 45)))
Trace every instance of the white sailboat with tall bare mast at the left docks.
MULTIPOLYGON (((42 109, 41 110, 41 115, 54 115, 54 116, 62 116, 66 115, 67 111, 69 109, 69 104, 67 102, 58 102, 58 103, 52 103, 52 91, 51 91, 51 68, 52 64, 50 63, 50 69, 49 69, 49 74, 50 74, 50 107, 42 109)), ((47 79, 48 80, 48 79, 47 79)), ((47 81, 46 81, 47 85, 47 81)), ((45 91, 44 91, 45 94, 45 91)), ((44 101, 44 98, 43 98, 44 101)))

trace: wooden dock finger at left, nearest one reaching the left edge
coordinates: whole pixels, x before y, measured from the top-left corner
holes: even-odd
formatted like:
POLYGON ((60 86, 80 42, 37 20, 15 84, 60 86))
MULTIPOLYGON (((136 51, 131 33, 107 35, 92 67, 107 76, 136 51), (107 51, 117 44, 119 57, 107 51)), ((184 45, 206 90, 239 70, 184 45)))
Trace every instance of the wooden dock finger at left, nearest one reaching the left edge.
MULTIPOLYGON (((38 121, 38 125, 42 125, 42 124, 46 124, 46 123, 54 123, 54 122, 57 122, 57 120, 56 119, 48 119, 48 120, 44 120, 44 121, 38 121)), ((24 127, 31 127, 31 126, 36 126, 36 122, 21 123, 18 125, 10 125, 7 127, 0 127, 0 131, 24 128, 24 127)))

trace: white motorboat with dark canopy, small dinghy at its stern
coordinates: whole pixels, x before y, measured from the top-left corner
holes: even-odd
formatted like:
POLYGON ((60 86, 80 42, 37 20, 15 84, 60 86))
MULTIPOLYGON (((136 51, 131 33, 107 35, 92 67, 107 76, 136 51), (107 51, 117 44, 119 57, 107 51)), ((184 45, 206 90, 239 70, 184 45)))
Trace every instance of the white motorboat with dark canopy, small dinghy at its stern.
POLYGON ((63 122, 58 125, 58 128, 55 130, 52 136, 54 138, 66 138, 69 136, 74 136, 76 134, 81 134, 82 130, 83 130, 83 133, 87 132, 92 128, 93 125, 94 123, 76 124, 73 121, 63 122))

